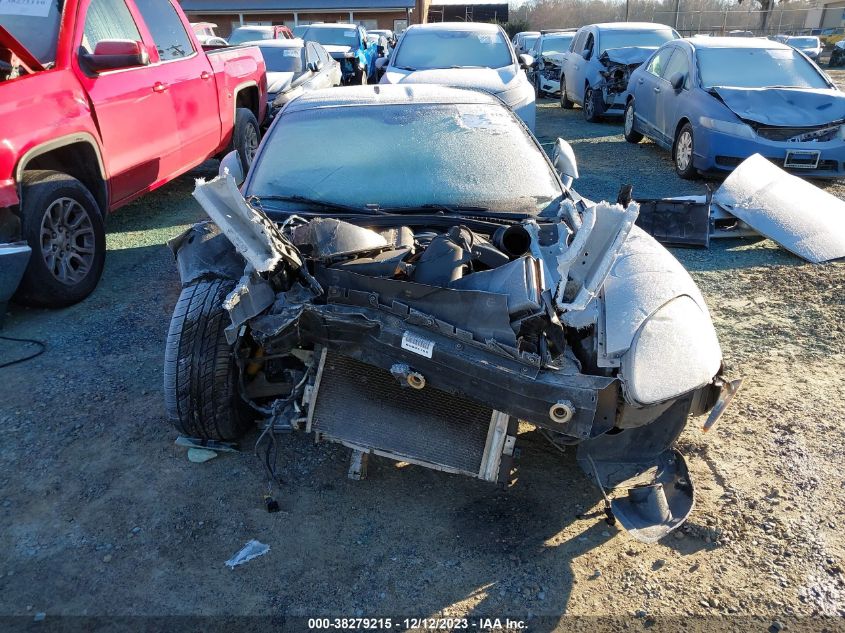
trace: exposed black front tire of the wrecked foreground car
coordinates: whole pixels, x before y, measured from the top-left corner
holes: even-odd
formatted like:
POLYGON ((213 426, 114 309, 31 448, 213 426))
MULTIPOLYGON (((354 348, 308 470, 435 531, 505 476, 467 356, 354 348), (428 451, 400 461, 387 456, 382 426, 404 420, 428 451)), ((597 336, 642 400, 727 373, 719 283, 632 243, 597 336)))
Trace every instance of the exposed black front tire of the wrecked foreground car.
POLYGON ((180 433, 230 441, 250 425, 238 390, 238 368, 224 330, 230 279, 200 279, 182 289, 164 349, 164 405, 180 433))

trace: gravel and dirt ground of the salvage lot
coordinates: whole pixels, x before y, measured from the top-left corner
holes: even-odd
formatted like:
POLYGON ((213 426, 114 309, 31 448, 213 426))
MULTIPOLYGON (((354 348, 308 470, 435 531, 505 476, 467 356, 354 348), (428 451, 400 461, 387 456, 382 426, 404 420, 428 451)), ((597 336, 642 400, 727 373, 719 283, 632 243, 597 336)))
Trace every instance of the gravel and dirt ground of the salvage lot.
MULTIPOLYGON (((588 124, 546 101, 538 133, 573 144, 577 188, 591 198, 615 198, 623 182, 643 197, 704 190, 676 178, 656 146, 625 143, 618 123, 588 124)), ((42 613, 48 623, 449 613, 533 617, 533 631, 568 627, 563 615, 618 616, 634 629, 715 615, 733 617, 698 621, 794 630, 794 616, 816 614, 842 626, 845 263, 812 266, 769 241, 675 252, 709 302, 730 375, 745 383, 714 430, 691 424, 682 436, 697 506, 660 544, 577 519, 600 509, 598 490, 573 454, 530 429, 507 491, 382 459, 351 482, 345 449, 292 436, 282 512, 268 514, 249 451, 189 463, 165 422, 161 368, 179 285, 163 244, 201 217, 195 175, 111 219, 105 275, 87 301, 14 307, 6 319, 3 334, 48 346, 0 369, 0 615, 25 616, 7 624, 42 613), (269 554, 225 567, 253 538, 269 554)), ((842 184, 828 187, 845 197, 842 184)), ((0 341, 0 361, 22 351, 0 341)))

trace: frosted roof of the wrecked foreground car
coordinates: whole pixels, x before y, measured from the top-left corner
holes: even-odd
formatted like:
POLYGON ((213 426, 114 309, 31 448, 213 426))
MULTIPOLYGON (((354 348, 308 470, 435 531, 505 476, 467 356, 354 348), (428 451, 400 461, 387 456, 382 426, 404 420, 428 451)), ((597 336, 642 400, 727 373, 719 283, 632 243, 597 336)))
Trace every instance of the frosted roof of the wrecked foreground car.
POLYGON ((306 92, 291 101, 285 112, 342 106, 406 104, 481 104, 506 107, 495 96, 480 90, 449 88, 435 84, 377 84, 338 86, 306 92))

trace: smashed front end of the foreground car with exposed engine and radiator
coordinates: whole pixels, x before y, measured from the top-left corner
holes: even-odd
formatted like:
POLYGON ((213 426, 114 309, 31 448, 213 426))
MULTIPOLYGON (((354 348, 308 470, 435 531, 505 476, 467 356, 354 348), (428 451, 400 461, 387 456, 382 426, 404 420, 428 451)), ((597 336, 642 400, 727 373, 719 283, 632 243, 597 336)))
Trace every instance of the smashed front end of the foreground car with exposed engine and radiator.
MULTIPOLYGON (((506 482, 524 421, 578 444, 603 493, 630 489, 609 511, 637 538, 688 516, 693 488, 674 441, 690 414, 721 414, 733 391, 700 292, 634 226, 636 203, 564 201, 556 218, 519 221, 274 221, 225 174, 195 197, 213 223, 172 244, 182 281, 229 280, 219 327, 235 399, 265 433, 342 443, 355 476, 378 454, 506 482)), ((196 327, 179 318, 168 337, 177 376, 194 362, 179 359, 182 332, 196 327)), ((174 423, 197 428, 171 391, 174 423)))

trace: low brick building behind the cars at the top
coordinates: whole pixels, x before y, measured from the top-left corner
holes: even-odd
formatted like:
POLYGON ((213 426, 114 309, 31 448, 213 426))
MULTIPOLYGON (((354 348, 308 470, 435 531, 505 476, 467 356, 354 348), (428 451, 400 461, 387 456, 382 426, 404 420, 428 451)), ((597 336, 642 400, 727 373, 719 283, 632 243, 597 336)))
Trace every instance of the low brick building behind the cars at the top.
POLYGON ((366 29, 401 31, 425 22, 430 0, 179 0, 191 22, 217 24, 227 37, 243 24, 349 22, 366 29))

